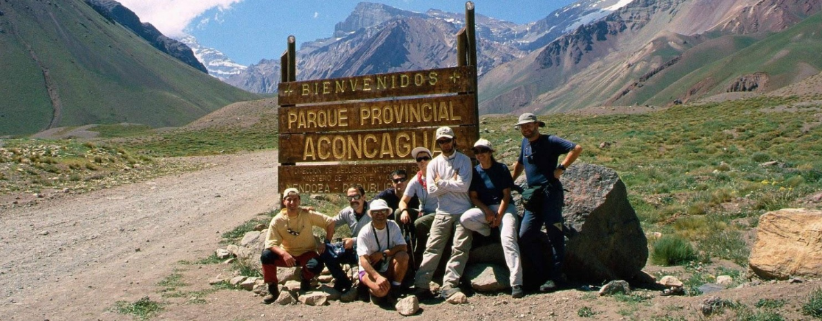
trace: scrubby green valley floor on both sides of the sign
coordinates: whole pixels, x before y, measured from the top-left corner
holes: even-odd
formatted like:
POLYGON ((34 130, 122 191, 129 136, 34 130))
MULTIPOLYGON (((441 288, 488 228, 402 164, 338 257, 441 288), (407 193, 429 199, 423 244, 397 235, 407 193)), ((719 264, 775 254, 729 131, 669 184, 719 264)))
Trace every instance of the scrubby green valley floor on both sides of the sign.
MULTIPOLYGON (((258 112, 269 103, 232 108, 258 112)), ((744 232, 755 226, 760 214, 820 206, 808 196, 822 190, 822 95, 543 119, 543 133, 584 146, 580 162, 617 170, 646 232, 675 233, 694 241, 703 259, 718 257, 744 266, 744 232)), ((521 140, 511 126, 515 117, 483 117, 483 122, 481 136, 495 144, 496 158, 513 163, 521 140)), ((90 131, 99 131, 101 138, 85 143, 3 140, 0 193, 73 190, 89 185, 89 180, 136 175, 135 167, 136 172, 150 173, 178 163, 169 157, 276 148, 273 112, 261 113, 251 126, 215 123, 219 125, 162 134, 151 134, 147 127, 100 126, 90 131)), ((94 189, 90 185, 85 189, 94 189)))

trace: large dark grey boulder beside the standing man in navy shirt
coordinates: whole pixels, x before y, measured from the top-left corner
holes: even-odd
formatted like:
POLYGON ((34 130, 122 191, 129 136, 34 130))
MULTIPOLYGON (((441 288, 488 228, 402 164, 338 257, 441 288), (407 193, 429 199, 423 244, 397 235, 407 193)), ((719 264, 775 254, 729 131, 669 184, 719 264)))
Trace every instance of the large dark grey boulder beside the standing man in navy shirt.
MULTIPOLYGON (((648 260, 648 240, 614 170, 575 163, 563 173, 566 227, 563 272, 573 280, 633 280, 648 260)), ((525 178, 516 181, 525 185, 525 178)), ((520 195, 515 196, 521 211, 520 195)))

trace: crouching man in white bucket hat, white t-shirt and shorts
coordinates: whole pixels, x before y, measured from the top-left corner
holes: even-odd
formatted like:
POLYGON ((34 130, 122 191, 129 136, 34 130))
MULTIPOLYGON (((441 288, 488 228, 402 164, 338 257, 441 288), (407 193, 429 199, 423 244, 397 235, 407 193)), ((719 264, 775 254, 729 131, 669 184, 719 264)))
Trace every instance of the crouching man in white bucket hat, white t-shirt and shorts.
POLYGON ((388 220, 391 209, 382 199, 371 202, 366 224, 357 237, 360 282, 371 292, 372 302, 393 304, 399 297, 399 285, 409 268, 406 243, 399 225, 388 220))

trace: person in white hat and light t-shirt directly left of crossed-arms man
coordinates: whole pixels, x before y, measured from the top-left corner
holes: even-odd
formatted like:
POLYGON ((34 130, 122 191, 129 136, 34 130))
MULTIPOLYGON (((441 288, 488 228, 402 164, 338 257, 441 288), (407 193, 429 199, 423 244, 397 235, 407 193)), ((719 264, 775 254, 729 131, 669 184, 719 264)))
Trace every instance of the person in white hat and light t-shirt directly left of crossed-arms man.
POLYGON ((404 231, 409 234, 409 243, 413 253, 411 267, 414 269, 419 268, 419 264, 423 262, 425 243, 428 241, 428 232, 431 230, 434 212, 436 212, 436 197, 428 197, 425 182, 425 172, 431 156, 431 150, 425 147, 411 150, 411 158, 417 161, 419 172, 409 180, 403 198, 399 199, 399 208, 394 213, 394 217, 399 218, 404 231), (418 203, 419 206, 413 207, 414 203, 418 203))

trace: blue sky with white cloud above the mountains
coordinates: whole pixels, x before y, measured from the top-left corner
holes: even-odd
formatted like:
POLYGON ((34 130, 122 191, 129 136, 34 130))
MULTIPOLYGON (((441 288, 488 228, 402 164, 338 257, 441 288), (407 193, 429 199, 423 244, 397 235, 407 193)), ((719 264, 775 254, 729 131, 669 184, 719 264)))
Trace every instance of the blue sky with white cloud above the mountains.
MULTIPOLYGON (((279 58, 289 34, 299 44, 328 38, 344 21, 354 0, 119 0, 172 37, 191 34, 205 47, 216 48, 243 65, 279 58)), ((464 1, 379 0, 409 11, 428 9, 464 13, 464 1)), ((548 16, 571 0, 474 1, 476 13, 524 24, 548 16)))

